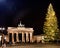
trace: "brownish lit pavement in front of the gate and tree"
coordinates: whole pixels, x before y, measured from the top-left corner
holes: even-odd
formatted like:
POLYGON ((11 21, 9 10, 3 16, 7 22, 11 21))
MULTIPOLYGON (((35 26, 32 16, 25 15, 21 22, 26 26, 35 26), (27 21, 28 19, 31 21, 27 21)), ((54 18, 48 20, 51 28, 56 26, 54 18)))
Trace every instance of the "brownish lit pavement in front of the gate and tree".
POLYGON ((20 44, 8 45, 7 48, 60 48, 60 44, 20 44))

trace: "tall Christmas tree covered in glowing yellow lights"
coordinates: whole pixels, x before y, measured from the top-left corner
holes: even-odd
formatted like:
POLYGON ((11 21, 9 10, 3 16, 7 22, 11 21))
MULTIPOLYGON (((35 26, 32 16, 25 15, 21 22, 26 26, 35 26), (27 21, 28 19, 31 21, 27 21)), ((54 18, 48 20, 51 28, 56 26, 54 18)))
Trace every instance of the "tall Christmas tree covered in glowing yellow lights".
POLYGON ((46 35, 45 38, 47 38, 48 41, 54 40, 59 34, 57 17, 51 3, 47 10, 43 31, 46 35))

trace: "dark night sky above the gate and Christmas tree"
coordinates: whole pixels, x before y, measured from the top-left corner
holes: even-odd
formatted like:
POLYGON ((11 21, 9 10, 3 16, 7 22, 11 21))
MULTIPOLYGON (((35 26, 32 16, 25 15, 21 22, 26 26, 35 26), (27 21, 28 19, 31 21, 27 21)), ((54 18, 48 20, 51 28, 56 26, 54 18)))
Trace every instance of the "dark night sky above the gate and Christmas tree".
POLYGON ((59 0, 0 0, 0 26, 17 27, 20 20, 25 27, 33 27, 34 34, 43 34, 48 5, 52 3, 60 29, 59 0))

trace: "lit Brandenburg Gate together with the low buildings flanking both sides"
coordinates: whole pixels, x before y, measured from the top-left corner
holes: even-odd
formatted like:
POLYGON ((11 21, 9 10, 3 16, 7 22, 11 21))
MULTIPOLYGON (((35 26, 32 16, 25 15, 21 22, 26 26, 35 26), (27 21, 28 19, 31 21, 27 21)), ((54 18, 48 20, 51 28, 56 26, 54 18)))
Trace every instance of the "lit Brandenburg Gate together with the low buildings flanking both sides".
POLYGON ((33 36, 33 32, 34 32, 33 28, 26 28, 20 22, 20 24, 18 24, 18 27, 8 27, 7 28, 7 35, 3 35, 2 42, 4 42, 4 39, 5 39, 7 42, 12 42, 13 44, 16 43, 16 42, 30 42, 30 43, 33 43, 35 41, 37 43, 42 41, 42 43, 43 43, 44 42, 43 41, 44 36, 40 36, 40 35, 33 36), (21 36, 19 36, 19 34, 21 36), (19 38, 21 38, 21 40, 19 38))

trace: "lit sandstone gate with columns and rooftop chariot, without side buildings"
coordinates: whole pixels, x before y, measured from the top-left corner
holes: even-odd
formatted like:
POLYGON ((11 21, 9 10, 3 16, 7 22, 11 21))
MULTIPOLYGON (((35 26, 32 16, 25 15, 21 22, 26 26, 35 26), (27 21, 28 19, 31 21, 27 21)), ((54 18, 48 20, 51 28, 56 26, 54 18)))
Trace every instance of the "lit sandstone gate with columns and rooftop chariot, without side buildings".
POLYGON ((33 41, 33 28, 25 28, 24 25, 21 23, 18 25, 18 27, 8 27, 7 32, 8 35, 6 36, 6 41, 9 42, 9 34, 12 34, 12 42, 15 43, 14 41, 14 34, 16 34, 16 42, 19 42, 19 37, 18 34, 22 34, 20 38, 22 38, 22 42, 32 42, 33 41), (26 37, 25 37, 26 36, 26 37))

